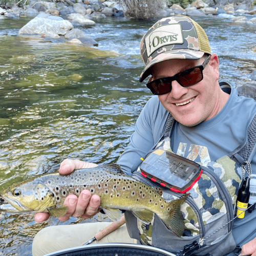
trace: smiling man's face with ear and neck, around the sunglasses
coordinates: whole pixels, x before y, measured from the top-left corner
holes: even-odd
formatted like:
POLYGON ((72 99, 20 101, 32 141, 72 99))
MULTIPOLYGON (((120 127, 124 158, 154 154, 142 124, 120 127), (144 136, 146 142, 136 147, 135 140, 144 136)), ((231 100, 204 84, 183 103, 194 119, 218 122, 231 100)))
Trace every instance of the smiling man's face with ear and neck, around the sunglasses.
MULTIPOLYGON (((204 60, 205 57, 199 60, 172 59, 156 63, 152 69, 153 80, 202 65, 204 60)), ((202 81, 190 87, 182 87, 177 81, 172 81, 172 91, 159 95, 159 100, 179 123, 195 126, 219 113, 228 99, 228 94, 223 93, 219 87, 218 78, 218 56, 212 54, 203 70, 202 81)))

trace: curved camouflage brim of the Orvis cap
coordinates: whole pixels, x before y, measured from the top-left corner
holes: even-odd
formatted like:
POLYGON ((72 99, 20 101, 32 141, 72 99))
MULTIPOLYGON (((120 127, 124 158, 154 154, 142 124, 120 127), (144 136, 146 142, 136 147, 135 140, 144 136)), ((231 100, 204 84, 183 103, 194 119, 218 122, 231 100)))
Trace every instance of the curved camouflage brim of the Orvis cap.
POLYGON ((163 52, 158 54, 152 61, 150 61, 140 75, 140 82, 143 82, 145 78, 151 75, 151 68, 156 64, 168 59, 200 59, 204 55, 204 52, 182 49, 182 50, 172 50, 169 52, 163 52))

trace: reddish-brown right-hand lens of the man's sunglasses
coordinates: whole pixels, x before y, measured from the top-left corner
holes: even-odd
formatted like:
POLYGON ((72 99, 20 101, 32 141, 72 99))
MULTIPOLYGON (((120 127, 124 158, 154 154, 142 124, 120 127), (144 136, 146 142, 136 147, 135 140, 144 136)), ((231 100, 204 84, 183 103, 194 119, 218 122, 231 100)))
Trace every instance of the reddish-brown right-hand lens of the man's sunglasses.
POLYGON ((203 75, 200 68, 194 68, 189 71, 182 72, 179 75, 179 78, 177 78, 177 81, 182 84, 182 86, 187 87, 200 82, 202 79, 203 75))

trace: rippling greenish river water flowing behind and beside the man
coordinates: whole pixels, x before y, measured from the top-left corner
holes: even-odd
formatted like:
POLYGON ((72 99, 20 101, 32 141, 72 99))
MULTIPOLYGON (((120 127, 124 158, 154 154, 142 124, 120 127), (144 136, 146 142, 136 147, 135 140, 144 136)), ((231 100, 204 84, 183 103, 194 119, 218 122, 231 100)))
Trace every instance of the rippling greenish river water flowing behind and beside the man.
MULTIPOLYGON (((152 96, 138 78, 140 39, 154 21, 96 19, 95 26, 80 27, 98 41, 89 48, 63 38, 19 37, 31 18, 0 17, 0 189, 57 170, 66 158, 115 163, 152 96)), ((250 82, 256 24, 194 18, 220 57, 220 79, 234 87, 250 82)), ((0 213, 1 255, 31 255, 35 234, 56 224, 33 217, 0 213)), ((88 221, 102 220, 109 221, 100 214, 88 221)))

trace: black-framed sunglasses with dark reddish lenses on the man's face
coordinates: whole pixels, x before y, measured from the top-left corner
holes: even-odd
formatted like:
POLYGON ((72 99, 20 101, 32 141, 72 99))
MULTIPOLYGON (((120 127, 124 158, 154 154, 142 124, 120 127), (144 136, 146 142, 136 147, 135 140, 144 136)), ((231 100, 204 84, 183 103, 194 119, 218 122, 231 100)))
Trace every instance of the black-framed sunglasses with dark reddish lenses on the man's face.
POLYGON ((174 76, 162 77, 146 84, 147 88, 155 95, 162 95, 172 91, 172 81, 177 81, 182 87, 193 86, 203 80, 203 70, 210 61, 210 55, 204 63, 187 70, 184 70, 174 76))

